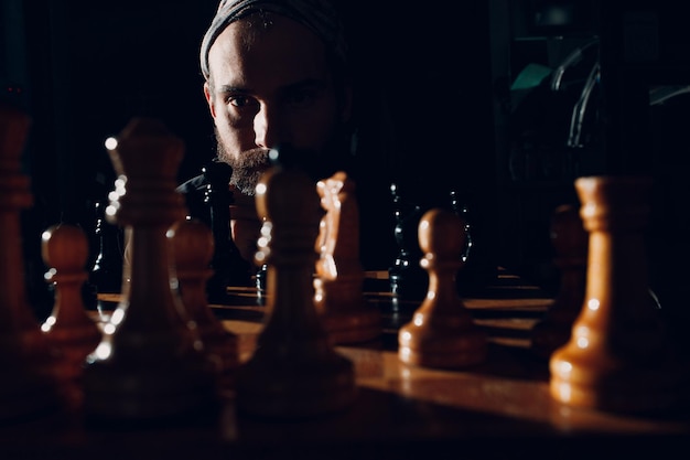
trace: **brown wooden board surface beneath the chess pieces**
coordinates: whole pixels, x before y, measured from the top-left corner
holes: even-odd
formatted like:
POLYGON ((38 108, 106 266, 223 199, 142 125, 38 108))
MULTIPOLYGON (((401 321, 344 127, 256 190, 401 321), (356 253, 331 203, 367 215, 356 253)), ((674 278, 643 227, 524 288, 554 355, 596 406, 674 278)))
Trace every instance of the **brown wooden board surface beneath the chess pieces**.
MULTIPOLYGON (((464 299, 490 338, 487 360, 472 368, 401 363, 397 328, 410 318, 414 302, 393 304, 385 292, 368 292, 385 311, 386 325, 379 340, 336 347, 354 363, 358 385, 357 400, 342 413, 269 421, 239 416, 230 400, 211 426, 119 431, 46 416, 0 427, 0 459, 688 458, 684 409, 629 416, 553 400, 548 363, 529 349, 530 329, 552 300, 531 287, 507 285, 494 298, 464 299)), ((212 309, 238 335, 246 360, 266 309, 251 290, 231 293, 237 304, 212 309)))

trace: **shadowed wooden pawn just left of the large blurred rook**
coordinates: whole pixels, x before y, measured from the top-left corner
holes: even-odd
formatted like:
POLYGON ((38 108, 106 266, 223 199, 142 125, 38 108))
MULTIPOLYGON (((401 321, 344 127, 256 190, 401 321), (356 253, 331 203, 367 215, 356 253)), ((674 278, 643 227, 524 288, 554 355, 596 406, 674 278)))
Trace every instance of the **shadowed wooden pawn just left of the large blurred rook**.
POLYGON ((561 275, 560 284, 553 303, 531 330, 531 349, 547 360, 570 339, 584 301, 587 233, 579 207, 563 204, 556 208, 551 217, 551 243, 556 250, 554 265, 561 275))

